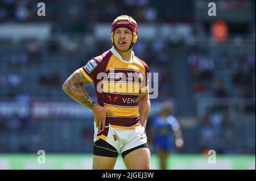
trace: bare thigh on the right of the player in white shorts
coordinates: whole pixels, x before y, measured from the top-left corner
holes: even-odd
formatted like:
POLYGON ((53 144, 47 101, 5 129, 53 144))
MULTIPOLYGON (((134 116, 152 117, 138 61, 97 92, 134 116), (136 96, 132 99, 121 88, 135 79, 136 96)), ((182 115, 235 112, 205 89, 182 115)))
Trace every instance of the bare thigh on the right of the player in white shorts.
POLYGON ((131 151, 123 158, 125 166, 129 170, 149 170, 150 169, 150 150, 139 148, 131 151))

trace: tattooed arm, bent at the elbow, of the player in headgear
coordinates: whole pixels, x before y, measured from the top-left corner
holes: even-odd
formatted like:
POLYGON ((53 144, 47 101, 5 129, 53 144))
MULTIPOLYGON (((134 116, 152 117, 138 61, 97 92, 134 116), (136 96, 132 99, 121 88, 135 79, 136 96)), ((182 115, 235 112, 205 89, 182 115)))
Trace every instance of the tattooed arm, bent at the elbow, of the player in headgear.
POLYGON ((97 105, 96 102, 87 94, 83 85, 90 83, 88 79, 82 75, 80 70, 76 70, 68 79, 65 81, 63 87, 64 91, 71 96, 74 100, 80 104, 93 108, 97 105))

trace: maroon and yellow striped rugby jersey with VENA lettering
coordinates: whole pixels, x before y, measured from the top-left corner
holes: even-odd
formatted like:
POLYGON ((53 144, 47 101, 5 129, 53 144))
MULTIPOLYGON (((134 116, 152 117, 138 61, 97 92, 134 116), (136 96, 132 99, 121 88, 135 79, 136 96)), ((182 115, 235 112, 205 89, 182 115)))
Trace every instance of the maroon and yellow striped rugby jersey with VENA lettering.
POLYGON ((112 47, 80 68, 82 74, 94 82, 98 104, 114 113, 114 116, 106 116, 106 126, 111 124, 118 129, 142 126, 139 122, 138 96, 141 91, 148 92, 149 69, 134 52, 132 57, 130 61, 122 60, 112 47), (105 76, 97 78, 99 73, 105 73, 105 76))

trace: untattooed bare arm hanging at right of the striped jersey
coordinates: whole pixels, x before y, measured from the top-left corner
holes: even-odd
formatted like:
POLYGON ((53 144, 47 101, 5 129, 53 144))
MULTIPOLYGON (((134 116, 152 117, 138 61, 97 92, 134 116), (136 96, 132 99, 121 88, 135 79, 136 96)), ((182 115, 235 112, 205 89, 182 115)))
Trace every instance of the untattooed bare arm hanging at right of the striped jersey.
POLYGON ((150 112, 150 99, 148 92, 139 94, 139 117, 141 124, 146 128, 148 113, 150 112))

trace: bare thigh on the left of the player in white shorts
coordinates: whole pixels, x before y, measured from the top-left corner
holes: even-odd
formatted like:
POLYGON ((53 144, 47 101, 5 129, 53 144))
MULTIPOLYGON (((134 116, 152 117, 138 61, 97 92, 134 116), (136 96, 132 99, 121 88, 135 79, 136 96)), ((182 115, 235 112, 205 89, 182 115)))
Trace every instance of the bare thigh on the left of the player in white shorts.
POLYGON ((113 170, 117 157, 93 155, 93 170, 113 170))

